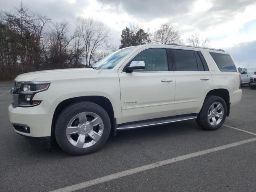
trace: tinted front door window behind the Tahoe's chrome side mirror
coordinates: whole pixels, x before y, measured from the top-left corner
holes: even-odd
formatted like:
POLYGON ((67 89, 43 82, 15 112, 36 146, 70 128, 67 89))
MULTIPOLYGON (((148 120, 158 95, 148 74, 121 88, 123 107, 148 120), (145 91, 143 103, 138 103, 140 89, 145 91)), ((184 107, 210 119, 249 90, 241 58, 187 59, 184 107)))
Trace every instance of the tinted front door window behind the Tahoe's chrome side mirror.
POLYGON ((130 62, 132 61, 145 62, 145 69, 134 71, 168 71, 168 60, 164 48, 146 49, 136 55, 130 62))

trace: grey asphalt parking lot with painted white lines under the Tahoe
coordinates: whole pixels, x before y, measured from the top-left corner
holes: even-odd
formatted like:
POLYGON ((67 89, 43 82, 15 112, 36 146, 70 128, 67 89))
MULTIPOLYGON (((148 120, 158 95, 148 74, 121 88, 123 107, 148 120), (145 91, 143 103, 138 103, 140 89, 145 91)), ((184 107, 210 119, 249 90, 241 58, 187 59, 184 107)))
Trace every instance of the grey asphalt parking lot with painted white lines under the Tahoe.
POLYGON ((0 191, 256 191, 256 90, 242 88, 216 131, 194 120, 119 131, 99 151, 70 156, 14 132, 11 86, 0 82, 0 191))

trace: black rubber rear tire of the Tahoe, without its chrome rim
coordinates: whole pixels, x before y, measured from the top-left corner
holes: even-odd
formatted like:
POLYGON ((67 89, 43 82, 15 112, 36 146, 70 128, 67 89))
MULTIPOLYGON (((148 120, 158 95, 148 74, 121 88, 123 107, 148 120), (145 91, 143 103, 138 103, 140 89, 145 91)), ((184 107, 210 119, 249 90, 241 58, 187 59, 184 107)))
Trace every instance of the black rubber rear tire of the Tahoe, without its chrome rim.
POLYGON ((227 105, 226 105, 226 102, 221 97, 219 97, 219 96, 212 96, 212 95, 210 95, 210 96, 206 97, 206 99, 204 101, 204 104, 202 106, 202 109, 199 112, 198 117, 196 119, 196 122, 203 129, 206 129, 206 130, 217 130, 224 123, 224 121, 226 119, 226 115, 227 115, 227 105), (222 106, 223 106, 223 109, 224 109, 223 118, 222 118, 222 120, 217 125, 211 125, 210 122, 208 121, 209 109, 210 109, 210 106, 212 104, 214 104, 214 102, 220 102, 222 104, 222 106))

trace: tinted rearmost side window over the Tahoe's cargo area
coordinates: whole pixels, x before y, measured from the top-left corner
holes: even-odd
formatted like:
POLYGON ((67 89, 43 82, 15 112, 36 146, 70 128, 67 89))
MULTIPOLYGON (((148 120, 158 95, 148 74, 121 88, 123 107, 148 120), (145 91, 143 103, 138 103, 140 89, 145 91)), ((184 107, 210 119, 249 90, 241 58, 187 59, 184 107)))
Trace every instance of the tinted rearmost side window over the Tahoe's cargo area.
POLYGON ((230 55, 209 52, 220 71, 237 72, 236 66, 230 55))

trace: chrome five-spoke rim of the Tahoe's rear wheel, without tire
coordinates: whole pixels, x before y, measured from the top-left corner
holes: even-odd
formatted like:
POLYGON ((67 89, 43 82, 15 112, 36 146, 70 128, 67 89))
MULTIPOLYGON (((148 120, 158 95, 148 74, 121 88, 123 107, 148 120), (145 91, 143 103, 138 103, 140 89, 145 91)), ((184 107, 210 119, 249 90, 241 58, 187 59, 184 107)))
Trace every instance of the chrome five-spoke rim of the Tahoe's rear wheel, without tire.
POLYGON ((218 125, 224 116, 224 107, 220 102, 214 102, 208 110, 208 121, 211 125, 218 125))

